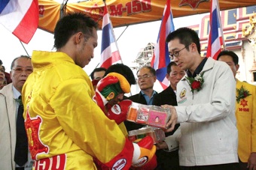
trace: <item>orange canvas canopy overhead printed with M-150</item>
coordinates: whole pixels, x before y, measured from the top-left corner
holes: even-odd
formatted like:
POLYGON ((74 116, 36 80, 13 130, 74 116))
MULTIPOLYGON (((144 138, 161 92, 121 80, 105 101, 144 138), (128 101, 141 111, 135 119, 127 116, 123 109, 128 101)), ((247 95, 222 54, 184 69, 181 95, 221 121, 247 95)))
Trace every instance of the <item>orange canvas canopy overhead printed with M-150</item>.
MULTIPOLYGON (((66 3, 65 3, 66 2, 66 3)), ((134 25, 143 22, 157 21, 162 18, 166 0, 106 0, 108 12, 114 28, 124 25, 134 25)), ((210 0, 172 0, 173 17, 189 16, 199 13, 209 13, 210 0)), ((219 0, 220 10, 247 7, 256 4, 248 0, 219 0)), ((79 11, 87 13, 99 22, 102 28, 104 2, 102 0, 87 0, 60 4, 53 0, 38 0, 38 28, 53 32, 58 19, 64 13, 79 11)))

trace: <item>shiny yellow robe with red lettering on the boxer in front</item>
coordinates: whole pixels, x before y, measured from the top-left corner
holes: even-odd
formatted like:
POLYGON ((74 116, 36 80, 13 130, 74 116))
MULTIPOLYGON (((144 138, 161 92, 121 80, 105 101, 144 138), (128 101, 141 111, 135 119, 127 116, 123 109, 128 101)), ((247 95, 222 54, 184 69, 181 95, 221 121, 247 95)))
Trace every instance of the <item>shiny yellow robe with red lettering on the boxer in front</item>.
POLYGON ((63 52, 35 51, 32 64, 22 94, 35 168, 96 169, 93 157, 102 163, 116 157, 125 136, 93 102, 87 73, 63 52))

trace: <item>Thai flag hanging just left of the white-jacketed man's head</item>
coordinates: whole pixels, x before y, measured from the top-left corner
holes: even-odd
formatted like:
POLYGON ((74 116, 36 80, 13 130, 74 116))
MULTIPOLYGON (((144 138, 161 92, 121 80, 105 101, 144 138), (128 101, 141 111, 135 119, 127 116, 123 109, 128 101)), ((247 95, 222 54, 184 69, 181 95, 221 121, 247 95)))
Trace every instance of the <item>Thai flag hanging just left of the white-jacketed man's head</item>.
POLYGON ((174 31, 173 16, 171 10, 171 1, 166 1, 166 6, 163 10, 163 18, 160 25, 160 30, 157 37, 157 43, 154 46, 154 55, 151 61, 151 67, 157 72, 157 79, 163 89, 169 86, 169 81, 166 79, 166 67, 170 62, 166 37, 169 32, 174 31))

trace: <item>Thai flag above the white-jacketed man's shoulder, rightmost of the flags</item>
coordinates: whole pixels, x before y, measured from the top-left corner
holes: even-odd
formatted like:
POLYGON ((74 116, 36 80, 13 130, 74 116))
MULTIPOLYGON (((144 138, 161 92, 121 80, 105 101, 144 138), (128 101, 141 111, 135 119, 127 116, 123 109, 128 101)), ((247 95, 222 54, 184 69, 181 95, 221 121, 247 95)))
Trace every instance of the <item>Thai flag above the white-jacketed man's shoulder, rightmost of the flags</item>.
POLYGON ((221 45, 224 45, 223 29, 221 27, 221 17, 218 7, 218 0, 212 0, 209 29, 209 39, 206 56, 212 57, 216 60, 218 54, 221 52, 221 45))

